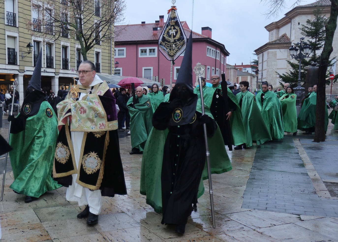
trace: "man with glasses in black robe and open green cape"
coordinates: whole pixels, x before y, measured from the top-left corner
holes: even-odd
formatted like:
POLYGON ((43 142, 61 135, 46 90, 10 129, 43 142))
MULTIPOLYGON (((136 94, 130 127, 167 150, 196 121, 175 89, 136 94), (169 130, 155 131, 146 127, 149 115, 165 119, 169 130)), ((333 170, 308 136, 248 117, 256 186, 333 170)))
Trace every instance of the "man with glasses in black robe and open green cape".
POLYGON ((227 98, 223 96, 218 75, 211 76, 211 83, 212 87, 207 88, 203 93, 204 104, 210 108, 210 112, 221 130, 224 144, 229 147, 229 150, 232 150, 232 145, 246 143, 241 108, 229 88, 226 88, 227 98))

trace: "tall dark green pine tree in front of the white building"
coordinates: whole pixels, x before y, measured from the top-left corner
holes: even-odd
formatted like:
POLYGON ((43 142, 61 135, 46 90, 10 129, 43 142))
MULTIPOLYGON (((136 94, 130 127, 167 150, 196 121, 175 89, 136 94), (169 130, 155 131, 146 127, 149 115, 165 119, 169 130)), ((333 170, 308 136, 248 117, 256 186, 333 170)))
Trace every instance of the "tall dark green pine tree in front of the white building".
MULTIPOLYGON (((323 48, 325 42, 325 25, 328 23, 328 19, 322 16, 321 8, 317 7, 317 9, 314 10, 313 15, 314 18, 312 20, 308 19, 306 21, 306 25, 302 24, 299 28, 301 34, 304 35, 305 39, 307 40, 307 44, 312 47, 310 58, 305 58, 301 60, 300 79, 303 81, 303 83, 306 78, 306 73, 311 67, 311 63, 319 63, 320 54, 318 54, 318 51, 323 48)), ((331 62, 332 60, 330 60, 329 65, 332 65, 331 62)), ((298 82, 299 64, 298 62, 291 62, 289 60, 287 60, 287 63, 290 66, 289 73, 276 73, 282 80, 280 81, 281 85, 288 82, 292 87, 296 87, 298 82)), ((329 83, 330 81, 327 82, 327 84, 329 83)))

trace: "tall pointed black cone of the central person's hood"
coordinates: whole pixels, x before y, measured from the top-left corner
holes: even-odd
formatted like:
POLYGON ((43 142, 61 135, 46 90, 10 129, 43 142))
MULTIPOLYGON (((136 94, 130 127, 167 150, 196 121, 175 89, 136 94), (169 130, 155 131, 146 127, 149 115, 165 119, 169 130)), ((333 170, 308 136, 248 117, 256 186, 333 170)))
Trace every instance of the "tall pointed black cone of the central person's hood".
POLYGON ((184 83, 191 91, 192 88, 192 31, 190 31, 189 40, 184 52, 181 67, 177 76, 176 83, 184 83))

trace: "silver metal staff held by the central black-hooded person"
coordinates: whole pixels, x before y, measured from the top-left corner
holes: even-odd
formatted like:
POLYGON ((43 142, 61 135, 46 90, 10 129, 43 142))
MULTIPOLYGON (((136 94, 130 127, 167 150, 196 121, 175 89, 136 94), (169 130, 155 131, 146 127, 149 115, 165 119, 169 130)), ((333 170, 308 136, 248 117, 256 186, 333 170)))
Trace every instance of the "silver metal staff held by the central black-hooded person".
MULTIPOLYGON (((201 75, 204 73, 204 67, 201 66, 200 63, 197 63, 196 67, 194 68, 194 72, 198 75, 198 84, 199 84, 199 92, 201 96, 201 108, 202 108, 202 115, 206 115, 204 110, 204 99, 203 99, 203 89, 202 89, 202 78, 201 75)), ((204 141, 206 143, 206 156, 207 156, 207 167, 208 167, 208 177, 209 177, 209 194, 210 194, 210 203, 211 203, 211 218, 212 218, 212 226, 213 228, 216 227, 215 225, 215 212, 214 212, 214 195, 212 190, 212 180, 211 180, 211 169, 210 169, 210 152, 209 152, 209 145, 208 145, 208 137, 207 137, 207 124, 203 124, 204 129, 204 141)))

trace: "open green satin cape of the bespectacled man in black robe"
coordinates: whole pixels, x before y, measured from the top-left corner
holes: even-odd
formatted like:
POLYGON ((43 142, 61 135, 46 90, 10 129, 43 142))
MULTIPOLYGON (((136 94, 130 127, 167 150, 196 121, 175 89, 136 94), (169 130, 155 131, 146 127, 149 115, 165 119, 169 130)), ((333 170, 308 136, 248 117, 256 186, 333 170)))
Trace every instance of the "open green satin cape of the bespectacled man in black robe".
MULTIPOLYGON (((218 86, 218 89, 222 89, 221 85, 218 86)), ((214 96, 215 90, 210 87, 203 90, 203 98, 204 98, 204 106, 207 106, 210 108, 212 99, 214 96)), ((239 103, 235 97, 235 95, 232 93, 232 91, 227 88, 227 94, 228 97, 236 104, 237 109, 233 112, 233 114, 230 117, 230 127, 231 127, 231 134, 232 134, 232 141, 234 145, 241 145, 246 143, 246 134, 244 129, 244 124, 242 120, 242 111, 241 107, 239 106, 239 103)), ((197 103, 199 103, 198 101, 197 103)))

